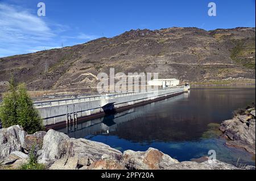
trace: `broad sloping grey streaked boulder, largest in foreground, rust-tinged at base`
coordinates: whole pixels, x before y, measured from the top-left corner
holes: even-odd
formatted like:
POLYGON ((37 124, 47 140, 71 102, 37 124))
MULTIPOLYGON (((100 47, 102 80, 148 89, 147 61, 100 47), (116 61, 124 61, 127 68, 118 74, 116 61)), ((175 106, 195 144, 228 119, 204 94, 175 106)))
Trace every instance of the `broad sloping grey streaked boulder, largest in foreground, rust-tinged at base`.
POLYGON ((54 162, 49 169, 124 169, 122 153, 108 145, 84 138, 69 140, 66 155, 54 162))

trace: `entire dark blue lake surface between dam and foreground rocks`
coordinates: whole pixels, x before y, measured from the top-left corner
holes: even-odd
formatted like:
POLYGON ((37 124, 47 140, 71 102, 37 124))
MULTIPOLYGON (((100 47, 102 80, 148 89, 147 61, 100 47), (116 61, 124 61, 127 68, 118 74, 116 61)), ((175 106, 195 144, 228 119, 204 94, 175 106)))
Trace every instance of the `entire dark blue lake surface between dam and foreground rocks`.
POLYGON ((216 151, 227 163, 255 165, 255 155, 230 148, 220 138, 219 124, 233 111, 255 102, 255 87, 204 87, 174 98, 147 104, 59 131, 69 137, 103 142, 124 151, 156 148, 179 161, 216 151))

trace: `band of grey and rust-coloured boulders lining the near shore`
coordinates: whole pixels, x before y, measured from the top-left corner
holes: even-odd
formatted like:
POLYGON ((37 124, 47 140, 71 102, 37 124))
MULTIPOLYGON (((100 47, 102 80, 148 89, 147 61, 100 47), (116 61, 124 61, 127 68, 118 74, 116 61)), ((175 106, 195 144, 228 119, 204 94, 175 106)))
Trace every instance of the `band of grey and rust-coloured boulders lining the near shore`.
MULTIPOLYGON (((179 162, 154 148, 147 151, 119 150, 100 142, 84 138, 69 138, 66 134, 50 129, 48 132, 27 134, 19 125, 0 129, 0 165, 19 169, 28 162, 32 146, 38 153, 38 162, 46 169, 56 170, 241 170, 217 160, 201 163, 179 162)), ((0 168, 1 168, 0 166, 0 168)))

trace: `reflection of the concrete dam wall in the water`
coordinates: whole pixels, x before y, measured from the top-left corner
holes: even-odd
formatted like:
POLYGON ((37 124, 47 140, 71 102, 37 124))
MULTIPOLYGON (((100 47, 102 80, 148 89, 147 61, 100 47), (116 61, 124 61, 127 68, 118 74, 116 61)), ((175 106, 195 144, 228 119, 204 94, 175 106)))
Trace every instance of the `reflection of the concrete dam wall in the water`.
MULTIPOLYGON (((188 98, 189 93, 185 93, 183 95, 176 96, 174 98, 164 99, 160 102, 163 103, 179 99, 188 98)), ((135 109, 131 108, 130 110, 118 112, 114 115, 107 115, 98 119, 93 119, 89 121, 84 121, 79 124, 71 125, 71 127, 61 128, 57 131, 64 132, 68 134, 69 137, 81 138, 86 137, 88 135, 96 135, 96 134, 109 134, 110 132, 116 131, 118 125, 122 123, 126 123, 127 121, 137 119, 138 117, 144 117, 148 112, 154 112, 154 104, 155 102, 144 106, 143 109, 135 109), (136 111, 135 111, 136 110, 136 111)))

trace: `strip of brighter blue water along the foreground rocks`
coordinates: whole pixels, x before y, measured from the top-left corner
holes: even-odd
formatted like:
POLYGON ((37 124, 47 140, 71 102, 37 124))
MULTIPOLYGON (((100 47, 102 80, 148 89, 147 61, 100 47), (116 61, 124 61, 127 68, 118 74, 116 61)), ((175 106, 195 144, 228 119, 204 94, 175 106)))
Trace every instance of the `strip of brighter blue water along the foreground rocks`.
MULTIPOLYGON (((90 137, 90 136, 88 136, 90 137)), ((88 138, 85 137, 85 138, 88 138)), ((217 138, 202 139, 197 141, 183 141, 183 142, 152 142, 151 144, 144 142, 131 142, 124 139, 120 139, 117 136, 102 136, 97 135, 90 137, 92 141, 104 142, 112 148, 120 151, 128 149, 134 151, 146 151, 148 148, 156 148, 163 153, 170 155, 172 158, 181 161, 189 161, 192 158, 200 158, 208 155, 209 150, 216 151, 216 159, 227 163, 236 165, 238 158, 239 163, 245 163, 249 165, 255 165, 253 155, 246 153, 246 151, 229 148, 225 146, 225 140, 217 138)), ((209 156, 209 155, 208 155, 209 156)))

